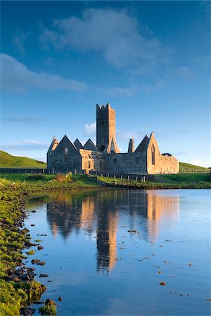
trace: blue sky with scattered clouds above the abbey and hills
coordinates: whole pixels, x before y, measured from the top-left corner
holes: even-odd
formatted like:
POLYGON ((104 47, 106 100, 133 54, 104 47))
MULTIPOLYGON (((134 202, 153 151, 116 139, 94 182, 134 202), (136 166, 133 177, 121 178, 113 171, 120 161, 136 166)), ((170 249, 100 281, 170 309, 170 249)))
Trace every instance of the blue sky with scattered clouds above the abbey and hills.
POLYGON ((1 1, 1 149, 45 160, 53 136, 96 140, 116 110, 127 151, 211 166, 210 2, 1 1))

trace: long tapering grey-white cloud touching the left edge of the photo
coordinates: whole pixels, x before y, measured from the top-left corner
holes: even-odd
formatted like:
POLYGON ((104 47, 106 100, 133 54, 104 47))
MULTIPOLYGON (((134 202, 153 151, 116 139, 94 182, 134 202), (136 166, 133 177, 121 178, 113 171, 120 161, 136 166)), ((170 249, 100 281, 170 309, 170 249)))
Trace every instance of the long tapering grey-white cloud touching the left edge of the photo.
POLYGON ((1 53, 1 88, 5 91, 25 92, 30 88, 43 90, 69 90, 82 92, 87 84, 74 79, 65 79, 57 74, 33 72, 15 58, 1 53))

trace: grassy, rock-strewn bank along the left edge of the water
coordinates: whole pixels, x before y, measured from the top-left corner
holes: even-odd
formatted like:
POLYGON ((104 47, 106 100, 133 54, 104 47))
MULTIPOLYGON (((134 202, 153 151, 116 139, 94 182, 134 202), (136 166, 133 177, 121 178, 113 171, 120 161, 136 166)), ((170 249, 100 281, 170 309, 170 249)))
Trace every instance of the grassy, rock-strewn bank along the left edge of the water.
MULTIPOLYGON (((34 245, 23 227, 25 200, 32 192, 58 189, 95 188, 96 178, 1 174, 0 179, 0 315, 19 315, 20 308, 39 301, 44 287, 23 264, 23 249, 34 245)), ((30 251, 28 251, 30 256, 30 251)))

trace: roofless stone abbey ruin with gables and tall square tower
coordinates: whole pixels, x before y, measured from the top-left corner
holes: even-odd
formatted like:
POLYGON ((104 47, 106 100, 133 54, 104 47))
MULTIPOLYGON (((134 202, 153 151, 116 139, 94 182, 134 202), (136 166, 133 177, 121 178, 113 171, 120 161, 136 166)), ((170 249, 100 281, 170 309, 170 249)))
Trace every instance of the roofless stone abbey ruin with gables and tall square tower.
POLYGON ((136 149, 130 139, 128 152, 120 152, 115 136, 115 110, 108 103, 96 105, 96 145, 90 138, 82 145, 78 139, 71 143, 66 135, 60 142, 53 137, 47 152, 47 168, 77 173, 178 173, 179 161, 171 154, 160 154, 153 133, 145 136, 136 149))

